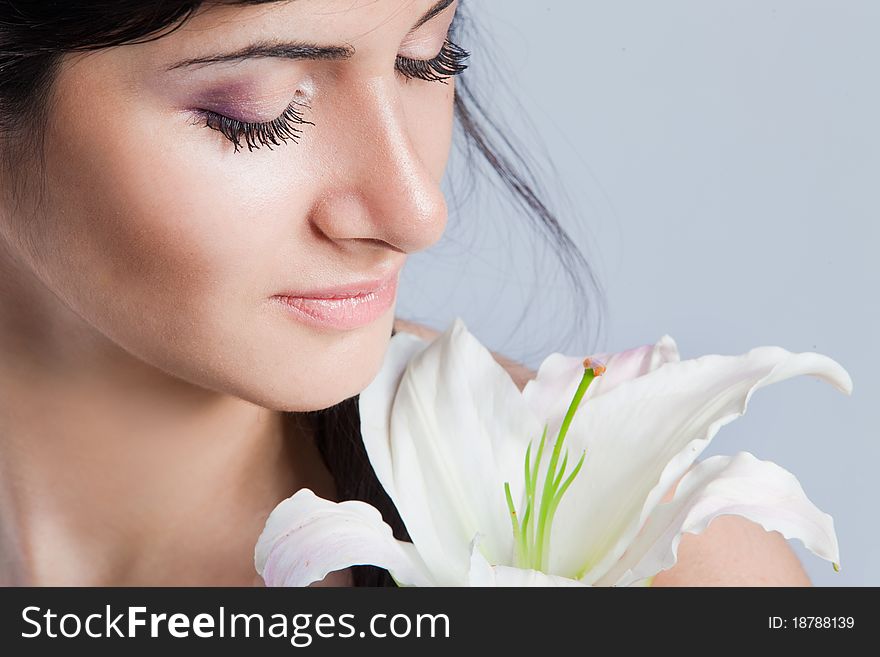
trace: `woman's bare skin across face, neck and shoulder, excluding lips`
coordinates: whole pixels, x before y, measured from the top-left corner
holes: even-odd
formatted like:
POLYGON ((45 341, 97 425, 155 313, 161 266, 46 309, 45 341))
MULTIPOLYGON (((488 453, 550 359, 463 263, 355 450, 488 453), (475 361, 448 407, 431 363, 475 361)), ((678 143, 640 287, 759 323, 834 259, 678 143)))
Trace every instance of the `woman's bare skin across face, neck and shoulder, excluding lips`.
MULTIPOLYGON (((0 584, 260 585, 274 506, 303 486, 335 499, 279 411, 363 390, 393 308, 317 330, 269 300, 379 278, 442 235, 454 80, 394 69, 440 50, 457 2, 412 30, 433 5, 213 6, 65 57, 45 185, 29 158, 0 172, 0 584), (267 39, 356 53, 173 68, 267 39), (293 100, 314 125, 272 150, 235 153, 195 113, 269 121, 293 100)), ((808 583, 784 541, 738 520, 681 554, 657 584, 808 583)))

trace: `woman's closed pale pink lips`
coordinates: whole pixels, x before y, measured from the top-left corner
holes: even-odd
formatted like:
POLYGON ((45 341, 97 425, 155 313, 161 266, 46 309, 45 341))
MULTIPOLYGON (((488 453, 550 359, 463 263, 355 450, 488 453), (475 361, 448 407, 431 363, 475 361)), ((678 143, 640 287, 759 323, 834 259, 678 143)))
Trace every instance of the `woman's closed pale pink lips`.
POLYGON ((307 292, 282 292, 272 299, 304 324, 351 330, 376 321, 394 304, 399 272, 398 267, 382 279, 307 292))

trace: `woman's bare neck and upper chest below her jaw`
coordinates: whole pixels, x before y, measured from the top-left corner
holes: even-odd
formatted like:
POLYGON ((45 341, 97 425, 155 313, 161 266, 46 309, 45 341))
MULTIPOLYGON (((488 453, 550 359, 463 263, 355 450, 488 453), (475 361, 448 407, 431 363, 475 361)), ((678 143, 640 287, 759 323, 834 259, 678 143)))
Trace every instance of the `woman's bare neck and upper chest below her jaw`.
POLYGON ((0 584, 259 585, 269 512, 332 497, 303 427, 122 350, 0 283, 0 584), (321 492, 319 492, 321 494, 321 492))

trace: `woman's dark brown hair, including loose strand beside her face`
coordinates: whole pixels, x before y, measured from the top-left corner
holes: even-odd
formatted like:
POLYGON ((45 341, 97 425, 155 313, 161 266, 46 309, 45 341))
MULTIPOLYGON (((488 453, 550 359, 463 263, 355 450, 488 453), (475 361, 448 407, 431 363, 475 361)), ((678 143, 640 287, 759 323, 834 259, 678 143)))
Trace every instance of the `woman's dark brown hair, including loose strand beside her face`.
MULTIPOLYGON (((228 0, 225 4, 263 4, 276 0, 228 0)), ((224 4, 210 0, 0 0, 0 166, 13 184, 24 186, 23 161, 41 163, 44 127, 51 112, 52 85, 65 53, 96 50, 161 38, 180 27, 200 7, 224 4)), ((465 18, 460 6, 451 28, 465 18)), ((473 29, 470 26, 470 29, 473 29)), ((469 45, 469 50, 478 52, 469 45)), ((573 286, 576 313, 592 307, 587 286, 598 284, 584 256, 535 191, 536 178, 512 143, 512 137, 483 109, 467 74, 456 80, 455 119, 464 137, 468 166, 477 155, 489 164, 524 211, 531 226, 554 247, 573 286)), ((476 167, 474 167, 476 168, 476 167)), ((31 182, 31 181, 28 181, 31 182)), ((38 181, 39 182, 39 181, 38 181)), ((601 317, 593 317, 601 320, 601 317)), ((576 321, 579 327, 586 324, 576 321)), ((393 335, 393 332, 392 332, 393 335)), ((360 433, 358 396, 320 411, 286 413, 286 422, 305 417, 313 423, 317 446, 333 475, 340 500, 357 499, 376 506, 394 535, 409 540, 406 527, 376 478, 360 433)), ((369 565, 352 567, 356 586, 393 586, 387 571, 369 565)))

